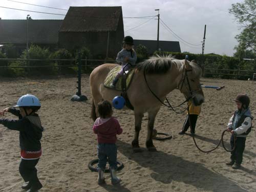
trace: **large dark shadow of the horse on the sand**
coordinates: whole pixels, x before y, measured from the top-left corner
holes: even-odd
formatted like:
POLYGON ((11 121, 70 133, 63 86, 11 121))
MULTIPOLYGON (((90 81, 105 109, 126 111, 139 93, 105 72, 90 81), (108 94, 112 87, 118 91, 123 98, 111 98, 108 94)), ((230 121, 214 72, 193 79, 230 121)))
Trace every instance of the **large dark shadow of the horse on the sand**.
POLYGON ((161 151, 148 152, 144 149, 142 153, 133 153, 132 149, 127 150, 127 148, 131 148, 131 144, 120 140, 117 141, 117 145, 121 154, 140 166, 153 170, 154 173, 151 174, 151 177, 164 184, 177 181, 206 191, 246 191, 236 182, 211 171, 201 163, 187 161, 182 157, 161 151))

